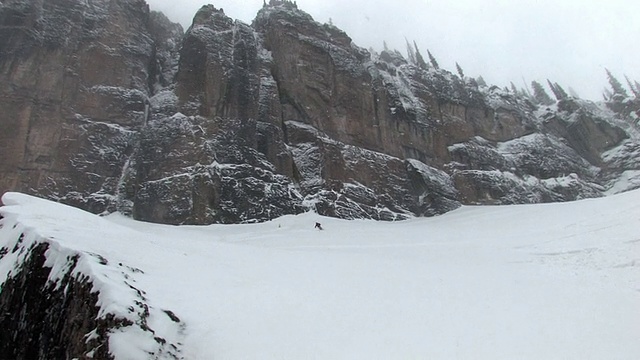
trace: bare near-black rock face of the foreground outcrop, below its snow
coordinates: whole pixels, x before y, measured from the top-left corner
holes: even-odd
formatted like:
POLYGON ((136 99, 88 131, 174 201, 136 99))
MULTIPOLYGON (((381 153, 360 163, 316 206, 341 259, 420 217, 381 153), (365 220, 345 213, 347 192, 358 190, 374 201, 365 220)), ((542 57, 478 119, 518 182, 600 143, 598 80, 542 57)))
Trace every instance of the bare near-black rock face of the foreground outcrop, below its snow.
POLYGON ((105 335, 114 324, 96 320, 97 293, 91 283, 68 276, 59 286, 48 281, 47 248, 39 244, 29 249, 18 273, 2 284, 0 359, 111 358, 105 335), (94 330, 96 336, 87 339, 94 330))

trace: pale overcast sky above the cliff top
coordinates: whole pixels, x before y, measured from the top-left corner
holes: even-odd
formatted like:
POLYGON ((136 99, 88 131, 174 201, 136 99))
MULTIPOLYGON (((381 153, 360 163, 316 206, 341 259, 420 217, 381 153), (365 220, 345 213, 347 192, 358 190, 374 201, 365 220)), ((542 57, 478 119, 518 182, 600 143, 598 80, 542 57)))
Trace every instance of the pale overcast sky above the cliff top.
MULTIPOLYGON (((199 0, 147 0, 185 30, 199 0)), ((268 2, 268 1, 267 1, 268 2)), ((251 23, 262 0, 217 0, 216 8, 251 23)), ((405 38, 440 67, 518 87, 550 79, 600 100, 605 67, 640 82, 640 1, 632 0, 297 0, 316 21, 343 29, 355 44, 406 54, 405 38)))

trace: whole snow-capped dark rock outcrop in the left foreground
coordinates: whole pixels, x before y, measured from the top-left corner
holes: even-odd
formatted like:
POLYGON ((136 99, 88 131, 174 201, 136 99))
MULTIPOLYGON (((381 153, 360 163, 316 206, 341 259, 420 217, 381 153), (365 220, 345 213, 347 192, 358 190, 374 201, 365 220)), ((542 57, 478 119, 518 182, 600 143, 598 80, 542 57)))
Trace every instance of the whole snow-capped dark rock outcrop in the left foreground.
POLYGON ((2 202, 0 358, 182 358, 184 323, 103 241, 141 234, 28 195, 2 202))

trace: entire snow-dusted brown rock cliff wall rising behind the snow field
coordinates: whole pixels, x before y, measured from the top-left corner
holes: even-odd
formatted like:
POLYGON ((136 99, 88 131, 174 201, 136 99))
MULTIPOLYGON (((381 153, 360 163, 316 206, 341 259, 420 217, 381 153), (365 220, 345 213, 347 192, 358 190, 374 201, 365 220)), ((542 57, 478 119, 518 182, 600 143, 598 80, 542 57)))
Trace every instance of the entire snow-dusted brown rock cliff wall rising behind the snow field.
POLYGON ((251 25, 204 6, 183 34, 137 0, 5 1, 0 49, 0 191, 95 213, 393 220, 601 196, 640 170, 637 101, 535 105, 288 2, 251 25))

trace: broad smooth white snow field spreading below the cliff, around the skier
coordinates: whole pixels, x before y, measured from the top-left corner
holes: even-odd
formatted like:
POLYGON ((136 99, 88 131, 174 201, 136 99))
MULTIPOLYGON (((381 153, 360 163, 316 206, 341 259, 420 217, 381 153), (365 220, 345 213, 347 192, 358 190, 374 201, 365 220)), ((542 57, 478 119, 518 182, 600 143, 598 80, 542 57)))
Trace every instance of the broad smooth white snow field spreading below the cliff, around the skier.
MULTIPOLYGON (((184 359, 640 359, 640 190, 402 222, 211 226, 3 203, 0 246, 49 242, 52 281, 80 254, 102 315, 131 316, 134 284, 184 359)), ((0 279, 19 261, 7 254, 0 279)), ((117 359, 150 358, 152 343, 134 327, 110 337, 117 359)))

